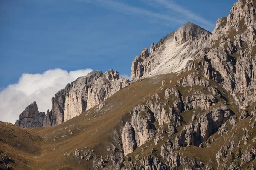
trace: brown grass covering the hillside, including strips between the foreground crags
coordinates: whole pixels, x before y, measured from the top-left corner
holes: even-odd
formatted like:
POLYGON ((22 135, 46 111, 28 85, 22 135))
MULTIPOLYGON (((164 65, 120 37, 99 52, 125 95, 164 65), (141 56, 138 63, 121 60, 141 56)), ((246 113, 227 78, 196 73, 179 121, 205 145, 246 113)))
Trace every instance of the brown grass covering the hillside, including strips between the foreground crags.
MULTIPOLYGON (((134 106, 139 103, 145 104, 145 101, 156 93, 159 94, 162 100, 166 88, 175 86, 180 90, 183 96, 189 95, 188 91, 190 91, 192 87, 183 88, 177 85, 177 81, 181 77, 186 77, 191 74, 195 69, 196 68, 179 75, 164 74, 149 79, 143 79, 140 82, 136 82, 131 86, 118 91, 104 102, 102 108, 99 109, 98 105, 80 116, 70 119, 58 126, 23 129, 12 124, 1 122, 1 155, 6 154, 12 157, 13 161, 10 161, 9 164, 13 169, 44 170, 70 167, 74 170, 78 170, 84 169, 85 166, 85 169, 93 169, 93 159, 95 159, 97 155, 102 155, 103 159, 106 159, 106 155, 108 154, 106 149, 108 146, 111 143, 118 146, 118 144, 116 144, 118 141, 116 140, 115 132, 119 134, 121 133, 125 122, 129 121, 131 117, 129 112, 132 111, 134 106), (84 159, 79 159, 74 156, 76 149, 81 150, 86 147, 93 150, 93 159, 86 161, 86 157, 84 159), (64 156, 66 152, 70 153, 69 157, 64 156)), ((227 98, 228 107, 236 113, 234 116, 238 117, 239 112, 241 111, 234 105, 234 101, 229 93, 216 82, 211 81, 211 83, 212 85, 218 86, 218 90, 224 94, 225 98, 227 98)), ((207 89, 202 86, 193 87, 193 89, 204 91, 204 93, 207 92, 207 89)), ((213 107, 217 107, 221 102, 221 99, 219 99, 219 102, 213 107)), ((183 119, 182 125, 177 128, 178 133, 170 137, 170 139, 174 139, 180 134, 180 131, 185 125, 193 122, 192 116, 195 111, 198 116, 205 112, 205 110, 200 109, 194 111, 182 111, 180 113, 183 119)), ((248 119, 250 118, 244 119, 243 122, 248 122, 248 119)), ((243 126, 247 126, 247 124, 243 122, 239 122, 239 124, 236 125, 236 128, 240 131, 243 126)), ((223 145, 223 141, 225 141, 227 136, 230 138, 230 135, 232 135, 233 130, 236 130, 236 128, 231 129, 229 127, 228 133, 223 136, 218 135, 218 133, 213 134, 209 140, 211 141, 214 139, 215 142, 210 144, 207 148, 187 146, 181 147, 180 150, 175 152, 188 158, 192 157, 204 162, 208 162, 209 160, 216 161, 215 155, 218 152, 218 147, 223 145)), ((168 130, 168 127, 167 125, 164 125, 163 128, 159 127, 159 129, 160 131, 163 129, 168 130)), ((255 130, 255 128, 253 130, 255 130)), ((238 136, 236 137, 238 139, 242 136, 240 133, 243 132, 237 133, 238 136)), ((169 137, 166 135, 158 142, 158 144, 155 144, 153 139, 143 144, 133 153, 125 156, 124 163, 128 163, 128 157, 131 157, 131 160, 134 161, 138 153, 140 153, 140 158, 150 154, 160 158, 160 146, 164 144, 167 139, 169 139, 169 137), (151 153, 153 148, 155 150, 154 154, 151 153), (141 152, 141 150, 143 150, 143 152, 141 152)), ((251 142, 248 144, 251 144, 251 142)), ((204 143, 202 145, 204 145, 204 143)), ((120 146, 116 148, 116 152, 122 151, 122 146, 120 146)), ((104 165, 107 168, 111 167, 113 163, 111 161, 108 161, 107 163, 106 161, 104 165)), ((3 168, 3 164, 1 164, 1 166, 3 168)), ((216 167, 217 166, 214 168, 216 167)))

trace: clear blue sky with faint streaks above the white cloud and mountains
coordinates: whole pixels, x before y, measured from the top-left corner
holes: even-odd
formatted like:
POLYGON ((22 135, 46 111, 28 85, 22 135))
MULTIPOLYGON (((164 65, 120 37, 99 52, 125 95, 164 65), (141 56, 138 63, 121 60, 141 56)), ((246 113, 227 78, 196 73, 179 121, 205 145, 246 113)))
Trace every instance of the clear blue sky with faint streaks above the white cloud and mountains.
POLYGON ((130 74, 145 47, 189 22, 212 31, 237 0, 0 0, 0 91, 23 73, 130 74))

